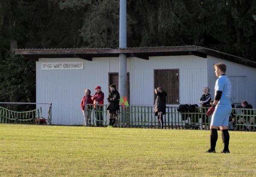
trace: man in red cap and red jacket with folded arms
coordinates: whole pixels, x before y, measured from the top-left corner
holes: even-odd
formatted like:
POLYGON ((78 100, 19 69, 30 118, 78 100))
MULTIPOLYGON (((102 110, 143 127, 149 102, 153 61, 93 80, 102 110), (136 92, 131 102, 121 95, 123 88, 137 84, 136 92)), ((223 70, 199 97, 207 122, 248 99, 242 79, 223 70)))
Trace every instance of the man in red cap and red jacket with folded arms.
POLYGON ((103 104, 104 104, 104 93, 101 91, 101 87, 97 86, 95 88, 96 93, 92 96, 95 116, 96 116, 96 126, 103 126, 103 104))

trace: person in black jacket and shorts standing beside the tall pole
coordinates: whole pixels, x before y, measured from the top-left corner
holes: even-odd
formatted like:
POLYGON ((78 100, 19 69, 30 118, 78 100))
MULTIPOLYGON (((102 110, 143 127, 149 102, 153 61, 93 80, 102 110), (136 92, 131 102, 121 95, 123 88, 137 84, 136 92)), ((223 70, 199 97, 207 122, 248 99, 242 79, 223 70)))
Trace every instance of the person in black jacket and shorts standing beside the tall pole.
POLYGON ((119 92, 116 90, 116 85, 112 84, 109 86, 110 93, 108 94, 108 106, 107 110, 109 110, 109 124, 108 127, 113 127, 116 122, 116 114, 119 110, 119 99, 120 95, 119 92))

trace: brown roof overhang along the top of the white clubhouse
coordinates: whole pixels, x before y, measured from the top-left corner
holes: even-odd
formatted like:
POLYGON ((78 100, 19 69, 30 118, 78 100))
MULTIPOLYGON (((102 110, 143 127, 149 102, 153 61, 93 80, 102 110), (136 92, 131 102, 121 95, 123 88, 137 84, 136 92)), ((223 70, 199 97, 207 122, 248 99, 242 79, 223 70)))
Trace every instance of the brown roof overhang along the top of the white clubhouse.
POLYGON ((256 62, 228 53, 195 45, 169 47, 137 47, 137 48, 51 48, 51 49, 15 49, 15 54, 26 59, 38 58, 81 58, 92 61, 93 57, 117 57, 120 53, 148 60, 150 56, 195 55, 207 58, 216 56, 231 62, 256 67, 256 62))

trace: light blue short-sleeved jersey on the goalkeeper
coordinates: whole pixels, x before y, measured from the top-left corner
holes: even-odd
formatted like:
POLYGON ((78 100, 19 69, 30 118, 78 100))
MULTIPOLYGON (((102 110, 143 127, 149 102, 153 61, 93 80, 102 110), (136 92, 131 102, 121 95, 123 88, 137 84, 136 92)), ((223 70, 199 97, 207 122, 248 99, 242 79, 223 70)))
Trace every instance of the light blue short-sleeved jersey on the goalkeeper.
POLYGON ((221 75, 215 83, 215 94, 217 91, 222 91, 221 99, 218 104, 231 105, 231 82, 226 75, 221 75))

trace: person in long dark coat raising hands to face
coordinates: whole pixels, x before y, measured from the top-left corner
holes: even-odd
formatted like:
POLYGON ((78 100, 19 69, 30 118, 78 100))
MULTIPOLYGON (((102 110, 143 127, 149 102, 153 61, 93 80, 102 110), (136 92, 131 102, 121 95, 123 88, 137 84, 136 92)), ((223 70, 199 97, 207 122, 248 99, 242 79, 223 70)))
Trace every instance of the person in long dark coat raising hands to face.
POLYGON ((154 91, 155 94, 157 95, 154 112, 159 121, 159 128, 163 129, 163 115, 166 114, 167 93, 163 91, 162 87, 157 87, 157 89, 155 89, 154 91))

